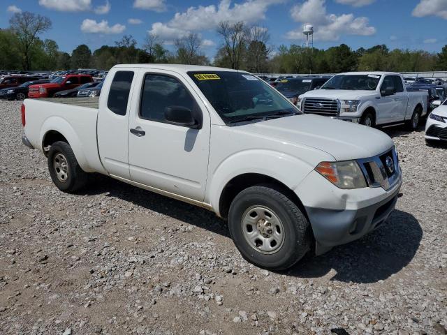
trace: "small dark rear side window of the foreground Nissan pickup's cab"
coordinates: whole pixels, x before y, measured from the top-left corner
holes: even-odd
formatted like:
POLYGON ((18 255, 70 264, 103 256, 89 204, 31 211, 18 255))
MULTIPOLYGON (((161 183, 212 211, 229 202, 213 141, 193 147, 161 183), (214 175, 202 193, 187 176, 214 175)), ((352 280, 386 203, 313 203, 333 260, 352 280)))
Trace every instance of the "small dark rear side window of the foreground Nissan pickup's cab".
POLYGON ((107 107, 115 114, 126 115, 132 80, 133 71, 117 71, 115 73, 107 101, 107 107))

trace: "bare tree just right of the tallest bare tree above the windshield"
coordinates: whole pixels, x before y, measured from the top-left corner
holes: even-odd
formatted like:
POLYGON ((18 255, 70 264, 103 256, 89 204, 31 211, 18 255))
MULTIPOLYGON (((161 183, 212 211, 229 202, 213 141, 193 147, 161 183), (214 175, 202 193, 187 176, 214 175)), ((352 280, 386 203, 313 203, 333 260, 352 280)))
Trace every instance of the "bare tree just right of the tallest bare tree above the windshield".
POLYGON ((251 27, 247 34, 247 65, 249 70, 261 73, 267 67, 270 34, 265 27, 251 27))

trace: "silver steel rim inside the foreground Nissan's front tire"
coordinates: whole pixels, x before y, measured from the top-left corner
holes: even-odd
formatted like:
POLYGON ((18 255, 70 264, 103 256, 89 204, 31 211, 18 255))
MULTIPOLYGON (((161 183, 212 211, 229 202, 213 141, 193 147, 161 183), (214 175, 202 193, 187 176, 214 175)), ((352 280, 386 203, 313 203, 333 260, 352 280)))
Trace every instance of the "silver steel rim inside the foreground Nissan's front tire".
POLYGON ((284 244, 284 225, 268 207, 250 207, 244 211, 241 224, 246 241, 260 253, 276 253, 284 244))

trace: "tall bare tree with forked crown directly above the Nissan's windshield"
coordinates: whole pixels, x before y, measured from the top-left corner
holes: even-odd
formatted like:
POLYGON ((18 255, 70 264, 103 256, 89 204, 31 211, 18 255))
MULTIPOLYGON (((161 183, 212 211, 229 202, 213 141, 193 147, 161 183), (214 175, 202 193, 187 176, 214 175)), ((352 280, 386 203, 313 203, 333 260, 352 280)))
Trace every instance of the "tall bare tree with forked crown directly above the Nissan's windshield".
POLYGON ((230 60, 231 68, 238 70, 247 44, 247 27, 244 22, 230 24, 224 21, 219 23, 217 34, 223 38, 223 47, 230 60))

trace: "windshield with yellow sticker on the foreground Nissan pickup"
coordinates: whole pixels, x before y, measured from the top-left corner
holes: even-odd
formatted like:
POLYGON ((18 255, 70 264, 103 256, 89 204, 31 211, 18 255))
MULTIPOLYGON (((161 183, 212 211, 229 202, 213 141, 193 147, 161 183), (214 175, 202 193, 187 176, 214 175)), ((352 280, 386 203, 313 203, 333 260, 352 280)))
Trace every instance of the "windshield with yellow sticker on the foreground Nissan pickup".
POLYGON ((217 71, 188 75, 227 124, 249 117, 300 112, 269 84, 248 73, 217 71))

